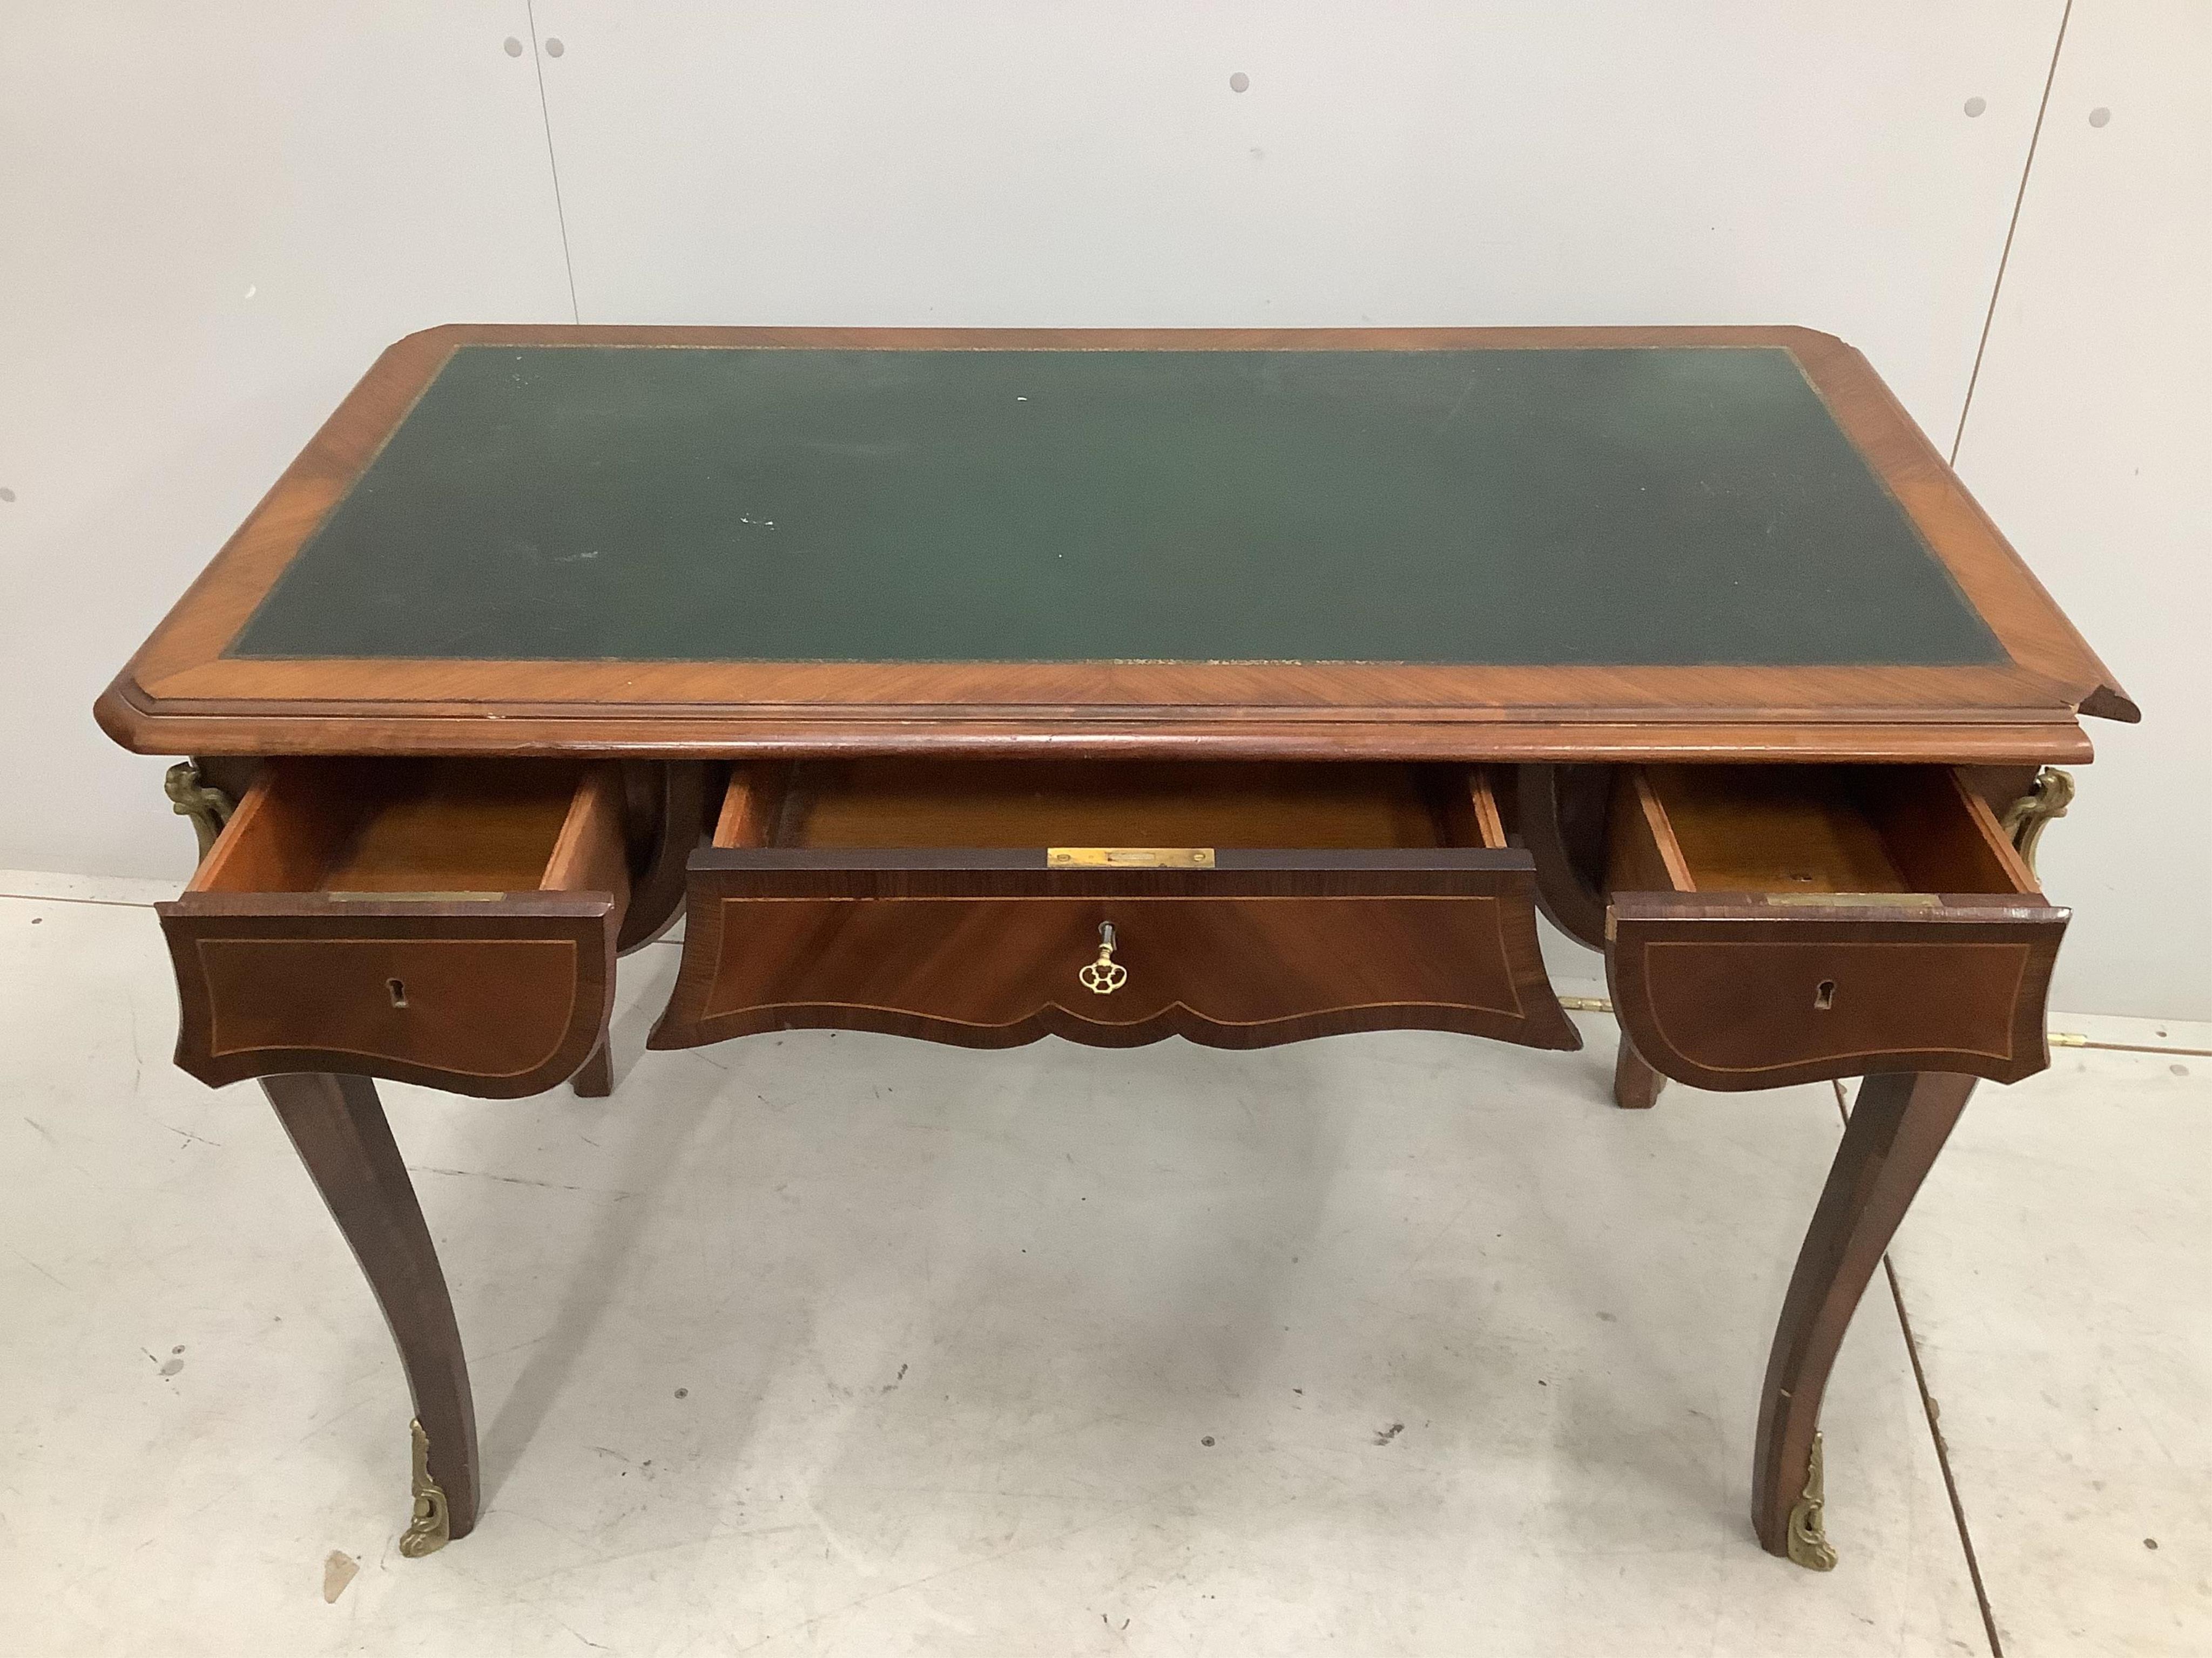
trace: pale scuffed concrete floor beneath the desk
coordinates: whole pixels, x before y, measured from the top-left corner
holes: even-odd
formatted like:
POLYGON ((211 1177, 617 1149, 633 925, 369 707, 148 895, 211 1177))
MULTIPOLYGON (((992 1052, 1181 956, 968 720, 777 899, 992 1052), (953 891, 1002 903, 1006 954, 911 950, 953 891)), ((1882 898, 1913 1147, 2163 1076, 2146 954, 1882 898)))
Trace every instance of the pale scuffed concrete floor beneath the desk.
POLYGON ((1984 1088, 1829 1391, 1820 1576, 1745 1505, 1829 1088, 1617 1112, 1606 1017, 639 1057, 655 946, 613 1099, 385 1088, 489 1483, 403 1561, 383 1324, 259 1090, 168 1066, 146 891, 0 893, 27 1658, 2212 1651, 2212 1059, 1984 1088))

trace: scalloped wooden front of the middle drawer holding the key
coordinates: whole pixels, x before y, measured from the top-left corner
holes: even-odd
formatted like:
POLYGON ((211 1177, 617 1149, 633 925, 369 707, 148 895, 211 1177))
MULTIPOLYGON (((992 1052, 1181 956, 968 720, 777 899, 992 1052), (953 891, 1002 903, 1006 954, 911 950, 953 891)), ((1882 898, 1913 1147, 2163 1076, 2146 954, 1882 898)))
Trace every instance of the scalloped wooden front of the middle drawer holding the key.
POLYGON ((695 860, 684 970, 655 1048, 818 1026, 971 1048, 1044 1035, 1261 1048, 1385 1028, 1577 1046, 1537 957, 1526 869, 1060 875, 745 860, 695 860), (1102 924, 1126 973, 1110 993, 1079 977, 1102 924))

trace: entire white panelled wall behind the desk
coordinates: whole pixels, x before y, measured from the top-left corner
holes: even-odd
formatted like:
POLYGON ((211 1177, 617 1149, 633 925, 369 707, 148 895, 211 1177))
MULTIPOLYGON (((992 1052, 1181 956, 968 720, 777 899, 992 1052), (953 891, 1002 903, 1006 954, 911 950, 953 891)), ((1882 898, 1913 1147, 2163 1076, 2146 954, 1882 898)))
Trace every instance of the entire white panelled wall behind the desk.
MULTIPOLYGON (((91 699, 411 327, 1787 321, 1949 447, 2064 0, 93 13, 0 38, 0 864, 170 873, 91 699)), ((2152 718, 2046 842, 2084 1010, 2212 1015, 2203 18, 2075 0, 1962 453, 2152 718)))

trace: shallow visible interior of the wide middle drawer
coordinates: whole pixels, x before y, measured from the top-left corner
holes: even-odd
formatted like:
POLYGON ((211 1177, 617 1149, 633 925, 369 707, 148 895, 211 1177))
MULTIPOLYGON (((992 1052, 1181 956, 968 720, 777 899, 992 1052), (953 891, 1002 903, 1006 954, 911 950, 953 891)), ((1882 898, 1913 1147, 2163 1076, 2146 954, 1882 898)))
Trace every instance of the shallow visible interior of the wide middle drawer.
POLYGON ((1378 763, 741 765, 717 847, 1504 847, 1489 776, 1378 763))

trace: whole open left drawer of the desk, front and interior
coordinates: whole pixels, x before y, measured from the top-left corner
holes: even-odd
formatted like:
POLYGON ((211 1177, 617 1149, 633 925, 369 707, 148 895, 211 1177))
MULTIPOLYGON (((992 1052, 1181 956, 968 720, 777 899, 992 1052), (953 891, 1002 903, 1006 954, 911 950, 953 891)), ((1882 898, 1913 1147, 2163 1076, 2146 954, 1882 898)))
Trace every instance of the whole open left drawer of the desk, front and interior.
POLYGON ((177 1063, 495 1099, 568 1079, 613 1006, 622 805, 611 763, 270 760, 159 906, 177 1063))

